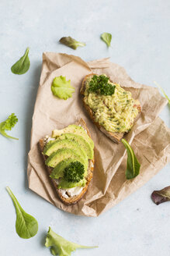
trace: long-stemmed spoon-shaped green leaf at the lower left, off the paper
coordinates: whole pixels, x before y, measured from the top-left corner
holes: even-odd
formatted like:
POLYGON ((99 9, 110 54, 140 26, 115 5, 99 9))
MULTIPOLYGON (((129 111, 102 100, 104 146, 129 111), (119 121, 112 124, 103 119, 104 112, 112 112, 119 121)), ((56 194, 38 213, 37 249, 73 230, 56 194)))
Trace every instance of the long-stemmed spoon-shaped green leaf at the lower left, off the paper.
POLYGON ((38 222, 33 216, 24 212, 19 201, 17 201, 15 195, 12 193, 12 190, 10 190, 9 187, 6 187, 6 190, 9 192, 16 208, 16 233, 25 239, 35 236, 38 231, 38 222))

